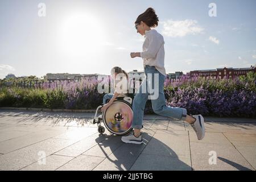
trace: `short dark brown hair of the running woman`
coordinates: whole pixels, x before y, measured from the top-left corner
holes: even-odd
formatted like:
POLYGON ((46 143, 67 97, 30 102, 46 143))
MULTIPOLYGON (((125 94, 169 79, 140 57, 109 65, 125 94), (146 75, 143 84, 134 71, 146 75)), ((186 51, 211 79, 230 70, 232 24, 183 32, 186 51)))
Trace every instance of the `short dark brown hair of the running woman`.
POLYGON ((141 21, 146 23, 148 27, 157 27, 159 19, 158 16, 155 14, 155 10, 151 7, 148 7, 148 9, 144 13, 138 16, 135 24, 141 23, 141 21))

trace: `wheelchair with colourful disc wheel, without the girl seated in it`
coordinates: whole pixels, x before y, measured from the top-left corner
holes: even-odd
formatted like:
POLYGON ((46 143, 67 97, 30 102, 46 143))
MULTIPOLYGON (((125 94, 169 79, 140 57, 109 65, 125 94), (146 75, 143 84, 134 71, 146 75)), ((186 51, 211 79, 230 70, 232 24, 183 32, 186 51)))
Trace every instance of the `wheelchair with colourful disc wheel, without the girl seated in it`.
MULTIPOLYGON (((107 102, 109 102, 109 100, 107 102)), ((132 97, 117 97, 108 109, 97 116, 98 110, 103 105, 98 106, 93 118, 93 124, 97 123, 98 125, 98 133, 103 134, 105 132, 104 126, 101 126, 101 121, 104 123, 106 129, 115 135, 125 135, 133 130, 131 127, 131 123, 133 122, 132 104, 132 97)))

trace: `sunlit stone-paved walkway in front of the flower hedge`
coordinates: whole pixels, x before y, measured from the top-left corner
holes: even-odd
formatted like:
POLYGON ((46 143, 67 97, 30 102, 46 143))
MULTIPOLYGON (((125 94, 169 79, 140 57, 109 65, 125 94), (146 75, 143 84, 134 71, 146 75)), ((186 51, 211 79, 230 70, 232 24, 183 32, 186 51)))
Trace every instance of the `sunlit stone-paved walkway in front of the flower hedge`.
POLYGON ((144 115, 141 145, 97 133, 93 113, 0 110, 0 170, 255 170, 256 119, 144 115))

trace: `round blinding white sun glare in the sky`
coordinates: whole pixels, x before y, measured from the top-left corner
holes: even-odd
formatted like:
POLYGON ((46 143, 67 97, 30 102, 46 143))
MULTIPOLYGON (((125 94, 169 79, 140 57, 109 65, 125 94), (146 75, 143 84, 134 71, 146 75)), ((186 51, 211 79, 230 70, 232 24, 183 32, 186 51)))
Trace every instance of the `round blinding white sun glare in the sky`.
POLYGON ((102 24, 90 14, 73 14, 64 20, 61 48, 70 56, 86 56, 99 52, 104 38, 102 24))

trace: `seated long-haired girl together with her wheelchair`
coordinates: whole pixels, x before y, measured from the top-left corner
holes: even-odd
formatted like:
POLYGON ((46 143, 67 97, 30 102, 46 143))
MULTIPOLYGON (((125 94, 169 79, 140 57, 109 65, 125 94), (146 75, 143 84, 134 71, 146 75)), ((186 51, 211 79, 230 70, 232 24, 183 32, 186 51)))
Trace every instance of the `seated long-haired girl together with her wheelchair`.
POLYGON ((105 127, 110 131, 110 133, 116 135, 124 135, 129 133, 132 128, 131 124, 133 121, 133 109, 132 101, 133 94, 129 94, 129 86, 127 83, 128 75, 127 73, 119 67, 114 67, 111 70, 112 78, 114 79, 114 94, 108 93, 105 94, 103 99, 103 106, 98 106, 96 114, 93 119, 93 123, 97 123, 98 132, 104 133, 105 128, 101 126, 101 120, 103 120, 105 127), (116 78, 119 77, 120 79, 116 78), (121 79, 122 78, 122 79, 121 79), (123 80, 125 79, 125 80, 123 80), (118 81, 120 80, 120 81, 118 81), (127 84, 125 88, 118 88, 118 82, 122 84, 127 84), (102 115, 96 117, 98 109, 101 108, 102 115), (96 121, 96 119, 98 121, 96 121))

